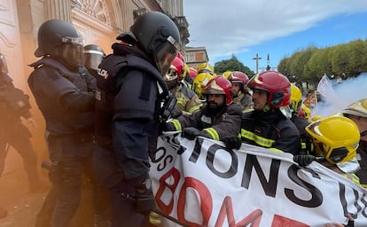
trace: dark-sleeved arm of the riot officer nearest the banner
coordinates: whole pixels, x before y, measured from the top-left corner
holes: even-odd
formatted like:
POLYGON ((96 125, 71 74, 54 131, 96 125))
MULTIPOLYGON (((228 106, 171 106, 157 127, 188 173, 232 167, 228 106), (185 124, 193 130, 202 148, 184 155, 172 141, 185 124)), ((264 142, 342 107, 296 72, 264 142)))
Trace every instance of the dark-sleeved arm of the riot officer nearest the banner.
POLYGON ((155 80, 133 71, 125 75, 113 100, 113 149, 125 178, 149 171, 149 145, 156 143, 150 138, 158 134, 157 96, 155 80))

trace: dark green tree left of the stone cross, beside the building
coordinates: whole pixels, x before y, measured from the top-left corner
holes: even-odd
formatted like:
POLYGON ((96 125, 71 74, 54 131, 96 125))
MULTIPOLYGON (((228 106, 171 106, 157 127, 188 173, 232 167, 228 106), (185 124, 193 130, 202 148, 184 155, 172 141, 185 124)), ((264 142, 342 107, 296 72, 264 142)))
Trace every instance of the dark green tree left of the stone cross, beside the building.
POLYGON ((240 62, 234 55, 230 59, 216 62, 214 68, 216 74, 223 74, 225 71, 241 71, 248 77, 254 76, 254 72, 240 62))

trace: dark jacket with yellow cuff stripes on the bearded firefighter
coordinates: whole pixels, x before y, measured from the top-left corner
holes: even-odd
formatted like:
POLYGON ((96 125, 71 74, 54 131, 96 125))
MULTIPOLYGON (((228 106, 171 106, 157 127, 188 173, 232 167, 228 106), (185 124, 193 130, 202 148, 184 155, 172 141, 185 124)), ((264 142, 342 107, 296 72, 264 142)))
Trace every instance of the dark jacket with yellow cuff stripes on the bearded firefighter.
POLYGON ((241 122, 241 107, 237 104, 223 106, 219 111, 211 113, 207 106, 191 115, 181 115, 171 121, 177 131, 194 127, 201 130, 203 137, 221 140, 224 137, 238 137, 241 122))

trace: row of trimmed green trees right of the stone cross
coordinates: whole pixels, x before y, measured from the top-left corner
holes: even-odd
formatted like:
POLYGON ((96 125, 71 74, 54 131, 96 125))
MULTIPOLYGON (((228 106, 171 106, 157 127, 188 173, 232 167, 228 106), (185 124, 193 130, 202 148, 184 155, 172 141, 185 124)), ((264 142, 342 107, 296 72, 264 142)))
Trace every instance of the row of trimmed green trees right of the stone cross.
POLYGON ((367 40, 355 40, 324 49, 310 46, 285 57, 277 66, 288 78, 298 82, 318 82, 323 74, 357 76, 367 72, 367 40))

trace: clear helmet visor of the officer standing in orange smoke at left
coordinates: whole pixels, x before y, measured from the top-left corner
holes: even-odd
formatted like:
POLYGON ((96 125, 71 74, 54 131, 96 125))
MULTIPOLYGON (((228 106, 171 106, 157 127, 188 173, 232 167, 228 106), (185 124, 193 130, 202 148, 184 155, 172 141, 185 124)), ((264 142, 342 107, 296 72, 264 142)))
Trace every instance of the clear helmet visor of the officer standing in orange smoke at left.
POLYGON ((63 37, 60 58, 73 67, 84 66, 84 48, 82 37, 63 37))

